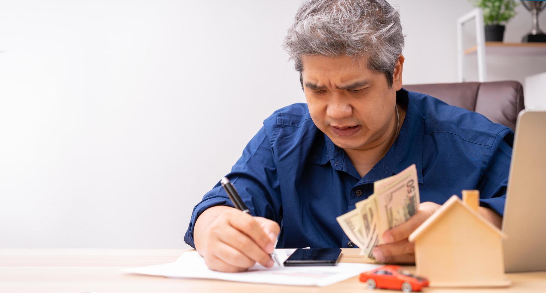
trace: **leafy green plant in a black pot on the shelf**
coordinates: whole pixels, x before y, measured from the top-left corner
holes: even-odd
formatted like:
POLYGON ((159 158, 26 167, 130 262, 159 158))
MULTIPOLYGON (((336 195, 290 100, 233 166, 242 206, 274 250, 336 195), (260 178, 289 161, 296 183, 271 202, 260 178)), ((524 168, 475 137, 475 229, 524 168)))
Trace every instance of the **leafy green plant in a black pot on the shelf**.
POLYGON ((472 5, 483 11, 485 41, 502 42, 505 25, 515 15, 514 0, 469 0, 472 5))

